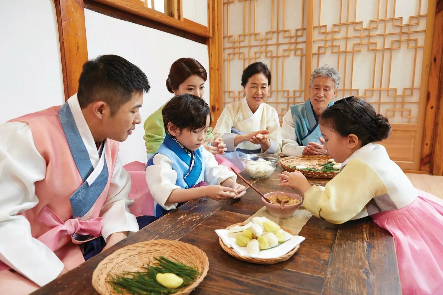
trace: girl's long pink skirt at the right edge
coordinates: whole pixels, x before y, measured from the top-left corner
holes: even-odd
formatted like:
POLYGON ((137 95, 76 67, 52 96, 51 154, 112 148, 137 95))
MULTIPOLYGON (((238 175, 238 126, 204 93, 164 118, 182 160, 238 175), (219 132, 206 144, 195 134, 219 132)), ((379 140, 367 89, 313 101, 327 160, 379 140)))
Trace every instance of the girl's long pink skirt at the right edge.
POLYGON ((394 236, 403 294, 443 294, 443 200, 417 191, 408 206, 371 217, 394 236))

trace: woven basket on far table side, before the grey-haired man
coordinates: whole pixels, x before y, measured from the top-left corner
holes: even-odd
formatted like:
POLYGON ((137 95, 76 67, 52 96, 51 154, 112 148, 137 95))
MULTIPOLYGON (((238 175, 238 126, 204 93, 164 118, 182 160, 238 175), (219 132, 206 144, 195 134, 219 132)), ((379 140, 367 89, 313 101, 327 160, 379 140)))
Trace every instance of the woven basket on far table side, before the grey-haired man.
POLYGON ((334 176, 336 176, 338 174, 338 170, 337 170, 337 172, 335 172, 335 171, 326 172, 326 171, 307 171, 307 170, 301 170, 301 169, 295 168, 295 166, 297 166, 297 165, 303 165, 306 167, 321 169, 321 167, 319 165, 326 163, 330 158, 331 158, 330 156, 324 156, 324 155, 284 157, 283 159, 280 160, 280 165, 286 171, 289 171, 289 172, 300 171, 306 177, 333 178, 334 176), (293 166, 293 167, 289 167, 289 166, 293 166))

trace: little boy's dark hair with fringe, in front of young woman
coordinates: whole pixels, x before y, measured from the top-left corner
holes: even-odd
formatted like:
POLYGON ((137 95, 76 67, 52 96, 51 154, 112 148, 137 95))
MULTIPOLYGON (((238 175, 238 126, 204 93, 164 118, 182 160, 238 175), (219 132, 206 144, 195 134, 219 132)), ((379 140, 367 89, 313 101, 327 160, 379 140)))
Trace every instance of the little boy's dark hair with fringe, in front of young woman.
POLYGON ((169 100, 162 110, 163 125, 167 130, 167 123, 171 122, 180 130, 189 128, 196 130, 206 126, 206 119, 210 118, 209 105, 198 96, 186 93, 176 95, 169 100))

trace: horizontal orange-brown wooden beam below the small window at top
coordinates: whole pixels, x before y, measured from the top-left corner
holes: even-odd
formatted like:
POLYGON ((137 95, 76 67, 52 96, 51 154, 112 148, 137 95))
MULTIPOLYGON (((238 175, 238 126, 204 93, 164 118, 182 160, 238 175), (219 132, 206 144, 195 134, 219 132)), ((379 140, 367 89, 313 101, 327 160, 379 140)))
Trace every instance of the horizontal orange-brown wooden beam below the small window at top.
POLYGON ((169 15, 166 15, 159 11, 145 8, 143 2, 139 0, 96 0, 96 1, 205 38, 208 38, 210 35, 208 27, 205 27, 199 23, 195 23, 189 19, 183 19, 182 21, 180 19, 175 19, 173 17, 170 17, 169 15))

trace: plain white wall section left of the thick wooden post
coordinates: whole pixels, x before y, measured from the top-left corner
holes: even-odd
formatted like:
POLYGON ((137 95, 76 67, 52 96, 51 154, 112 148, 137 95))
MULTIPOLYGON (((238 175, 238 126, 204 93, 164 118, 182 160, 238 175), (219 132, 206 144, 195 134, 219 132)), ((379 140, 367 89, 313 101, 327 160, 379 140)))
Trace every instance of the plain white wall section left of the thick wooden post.
POLYGON ((0 123, 64 103, 54 3, 0 0, 0 123))

